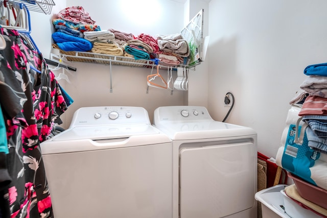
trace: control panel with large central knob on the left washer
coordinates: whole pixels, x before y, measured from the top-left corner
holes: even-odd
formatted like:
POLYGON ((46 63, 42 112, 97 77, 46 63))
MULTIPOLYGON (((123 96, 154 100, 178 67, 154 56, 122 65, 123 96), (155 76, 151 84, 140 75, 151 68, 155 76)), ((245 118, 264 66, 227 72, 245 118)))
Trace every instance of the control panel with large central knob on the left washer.
POLYGON ((109 124, 150 124, 148 111, 143 107, 83 107, 75 111, 71 126, 109 124))

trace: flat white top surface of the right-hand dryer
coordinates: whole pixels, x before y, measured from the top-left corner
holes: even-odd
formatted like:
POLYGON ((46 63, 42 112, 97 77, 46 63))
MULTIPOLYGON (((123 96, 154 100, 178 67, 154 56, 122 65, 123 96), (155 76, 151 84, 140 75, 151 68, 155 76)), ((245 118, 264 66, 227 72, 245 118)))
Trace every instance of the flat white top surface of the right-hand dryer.
POLYGON ((198 120, 197 122, 161 121, 156 123, 155 127, 166 133, 173 140, 256 135, 256 132, 249 127, 214 120, 198 120))

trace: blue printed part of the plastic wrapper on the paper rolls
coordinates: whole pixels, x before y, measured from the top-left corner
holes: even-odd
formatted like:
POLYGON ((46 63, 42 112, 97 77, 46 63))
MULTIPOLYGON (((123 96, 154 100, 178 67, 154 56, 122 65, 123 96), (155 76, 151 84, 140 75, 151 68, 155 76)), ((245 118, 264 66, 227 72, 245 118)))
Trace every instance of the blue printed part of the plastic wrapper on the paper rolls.
POLYGON ((320 153, 308 146, 308 138, 306 133, 301 144, 295 143, 294 140, 296 131, 300 133, 301 126, 299 126, 297 130, 295 125, 290 125, 282 156, 282 166, 284 169, 300 177, 304 181, 317 185, 311 179, 310 167, 314 166, 315 161, 320 157, 320 153))

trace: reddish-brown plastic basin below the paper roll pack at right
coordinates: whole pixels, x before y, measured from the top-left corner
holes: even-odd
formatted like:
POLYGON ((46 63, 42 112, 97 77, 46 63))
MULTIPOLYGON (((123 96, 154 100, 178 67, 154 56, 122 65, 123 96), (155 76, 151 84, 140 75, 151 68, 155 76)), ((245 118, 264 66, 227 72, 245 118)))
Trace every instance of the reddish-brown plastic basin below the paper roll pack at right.
POLYGON ((289 172, 288 176, 293 179, 297 191, 302 198, 327 209, 327 190, 305 182, 289 172))

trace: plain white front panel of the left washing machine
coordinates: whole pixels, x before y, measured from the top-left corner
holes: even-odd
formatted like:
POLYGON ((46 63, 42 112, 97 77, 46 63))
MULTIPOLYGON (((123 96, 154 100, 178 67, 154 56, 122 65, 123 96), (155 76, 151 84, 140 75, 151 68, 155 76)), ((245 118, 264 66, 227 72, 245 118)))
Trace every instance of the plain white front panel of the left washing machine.
POLYGON ((171 217, 171 153, 163 143, 43 155, 54 216, 171 217))

